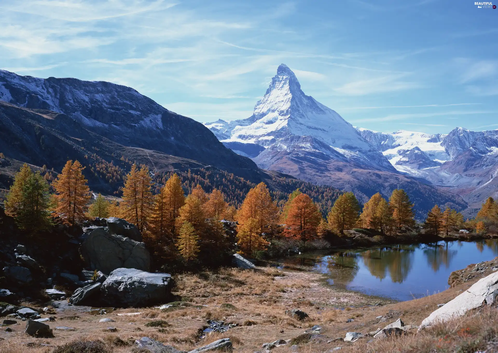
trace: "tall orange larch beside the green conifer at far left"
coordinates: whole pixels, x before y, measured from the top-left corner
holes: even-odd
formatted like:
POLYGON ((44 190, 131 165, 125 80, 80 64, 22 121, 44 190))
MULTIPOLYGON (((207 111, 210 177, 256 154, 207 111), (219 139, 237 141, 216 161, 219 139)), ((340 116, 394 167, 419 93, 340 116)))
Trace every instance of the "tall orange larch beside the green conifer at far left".
POLYGON ((78 161, 67 161, 62 173, 52 182, 56 191, 55 214, 69 225, 86 219, 85 212, 90 200, 88 180, 83 176, 83 167, 78 161))

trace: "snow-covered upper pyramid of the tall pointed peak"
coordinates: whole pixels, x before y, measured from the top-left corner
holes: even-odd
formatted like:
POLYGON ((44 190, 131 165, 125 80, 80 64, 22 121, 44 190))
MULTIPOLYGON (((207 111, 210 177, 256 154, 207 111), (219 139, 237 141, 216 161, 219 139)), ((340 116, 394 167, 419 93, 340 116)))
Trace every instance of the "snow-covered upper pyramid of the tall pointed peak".
POLYGON ((394 170, 337 112, 304 94, 296 75, 284 64, 278 67, 252 116, 205 125, 225 146, 251 157, 261 168, 275 168, 275 163, 290 153, 300 155, 301 160, 333 159, 374 170, 394 170))

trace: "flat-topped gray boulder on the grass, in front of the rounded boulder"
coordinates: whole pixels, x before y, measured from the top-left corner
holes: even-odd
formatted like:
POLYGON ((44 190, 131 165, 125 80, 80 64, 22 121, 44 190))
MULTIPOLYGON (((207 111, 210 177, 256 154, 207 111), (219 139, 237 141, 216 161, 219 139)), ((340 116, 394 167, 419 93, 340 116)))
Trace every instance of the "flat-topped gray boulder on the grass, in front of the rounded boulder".
POLYGON ((145 307, 167 302, 171 294, 171 275, 117 268, 102 283, 101 298, 107 304, 145 307))

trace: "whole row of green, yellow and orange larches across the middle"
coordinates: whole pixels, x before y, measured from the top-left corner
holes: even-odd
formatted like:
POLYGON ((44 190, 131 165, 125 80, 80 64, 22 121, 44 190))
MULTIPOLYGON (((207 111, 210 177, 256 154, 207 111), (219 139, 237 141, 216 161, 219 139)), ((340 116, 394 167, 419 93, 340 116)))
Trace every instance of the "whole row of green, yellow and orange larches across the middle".
MULTIPOLYGON (((178 257, 191 261, 228 253, 233 241, 221 220, 237 221, 237 250, 246 255, 265 250, 275 235, 305 242, 329 231, 344 234, 346 230, 368 228, 392 235, 415 225, 414 205, 403 189, 393 190, 388 200, 376 193, 363 209, 353 192, 342 193, 324 218, 319 203, 299 188, 282 205, 261 182, 249 189, 236 209, 222 191, 212 188, 206 193, 199 183, 190 185, 185 195, 184 183, 177 174, 169 174, 157 188, 148 168, 136 164, 124 177, 120 202, 108 201, 101 194, 90 202, 83 169, 78 161, 68 161, 52 180, 52 194, 47 178, 24 164, 7 194, 5 213, 27 232, 46 230, 56 218, 68 225, 90 217, 124 218, 136 225, 147 246, 164 261, 178 257)), ((461 228, 480 233, 497 223, 498 206, 490 197, 476 219, 464 220, 456 210, 443 211, 436 205, 428 213, 424 228, 427 234, 436 235, 461 228)))

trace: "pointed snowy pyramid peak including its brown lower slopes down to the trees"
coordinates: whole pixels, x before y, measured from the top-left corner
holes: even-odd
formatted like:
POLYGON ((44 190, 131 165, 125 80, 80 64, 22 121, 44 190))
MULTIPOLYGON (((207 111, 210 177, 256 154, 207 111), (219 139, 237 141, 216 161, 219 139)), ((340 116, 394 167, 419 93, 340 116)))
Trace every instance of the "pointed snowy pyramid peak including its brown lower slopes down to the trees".
MULTIPOLYGON (((337 112, 304 94, 294 73, 283 64, 252 116, 205 125, 225 146, 250 157, 260 168, 353 190, 363 202, 376 192, 388 196, 392 189, 402 187, 410 193, 420 219, 435 203, 466 206, 459 196, 397 171, 379 148, 392 146, 392 136, 373 132, 368 136, 357 130, 337 112)), ((432 163, 415 152, 402 158, 408 164, 432 163)))

